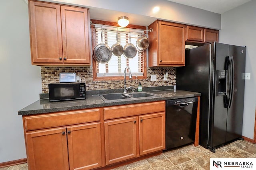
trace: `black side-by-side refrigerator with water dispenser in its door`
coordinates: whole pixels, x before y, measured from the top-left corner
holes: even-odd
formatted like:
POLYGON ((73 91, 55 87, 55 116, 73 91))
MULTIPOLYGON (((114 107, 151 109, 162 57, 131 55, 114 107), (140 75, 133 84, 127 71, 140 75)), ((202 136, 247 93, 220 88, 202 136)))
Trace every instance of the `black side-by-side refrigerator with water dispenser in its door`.
POLYGON ((215 149, 242 139, 246 47, 209 43, 186 50, 178 90, 201 92, 199 144, 215 149))

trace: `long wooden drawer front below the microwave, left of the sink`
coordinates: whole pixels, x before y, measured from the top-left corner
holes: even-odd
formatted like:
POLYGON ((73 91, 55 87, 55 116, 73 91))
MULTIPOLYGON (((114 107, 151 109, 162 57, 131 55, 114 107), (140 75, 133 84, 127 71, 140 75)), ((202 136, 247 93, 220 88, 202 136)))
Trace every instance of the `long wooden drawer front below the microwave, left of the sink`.
POLYGON ((24 116, 26 131, 50 127, 74 125, 92 121, 100 121, 100 109, 84 109, 64 111, 43 115, 24 116))

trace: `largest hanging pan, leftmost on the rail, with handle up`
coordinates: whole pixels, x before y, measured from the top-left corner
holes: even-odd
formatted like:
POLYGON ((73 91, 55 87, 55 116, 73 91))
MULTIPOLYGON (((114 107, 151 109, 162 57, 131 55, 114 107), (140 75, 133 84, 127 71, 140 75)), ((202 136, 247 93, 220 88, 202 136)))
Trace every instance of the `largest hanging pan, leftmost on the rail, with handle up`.
POLYGON ((92 54, 94 60, 98 63, 108 63, 112 56, 112 51, 108 45, 103 42, 103 33, 101 29, 101 43, 96 45, 92 54))

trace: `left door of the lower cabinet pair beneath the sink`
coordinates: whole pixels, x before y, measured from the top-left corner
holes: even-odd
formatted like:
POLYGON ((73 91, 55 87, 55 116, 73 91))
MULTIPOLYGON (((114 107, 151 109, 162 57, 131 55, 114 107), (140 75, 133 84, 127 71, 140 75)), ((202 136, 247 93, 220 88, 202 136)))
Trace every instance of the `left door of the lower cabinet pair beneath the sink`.
POLYGON ((136 157, 136 117, 107 121, 106 165, 136 157))

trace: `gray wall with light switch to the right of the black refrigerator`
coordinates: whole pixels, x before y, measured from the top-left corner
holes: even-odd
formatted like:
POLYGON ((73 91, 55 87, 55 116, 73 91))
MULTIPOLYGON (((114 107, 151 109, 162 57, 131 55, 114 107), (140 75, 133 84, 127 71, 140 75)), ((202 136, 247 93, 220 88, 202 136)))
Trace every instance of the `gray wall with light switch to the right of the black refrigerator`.
POLYGON ((251 80, 245 80, 244 122, 242 135, 254 138, 256 105, 256 0, 221 15, 220 43, 246 45, 246 72, 251 80))

